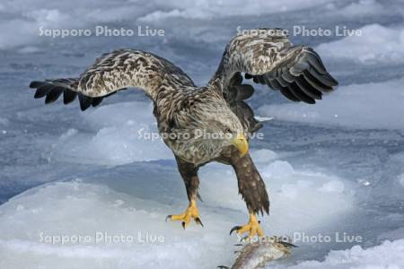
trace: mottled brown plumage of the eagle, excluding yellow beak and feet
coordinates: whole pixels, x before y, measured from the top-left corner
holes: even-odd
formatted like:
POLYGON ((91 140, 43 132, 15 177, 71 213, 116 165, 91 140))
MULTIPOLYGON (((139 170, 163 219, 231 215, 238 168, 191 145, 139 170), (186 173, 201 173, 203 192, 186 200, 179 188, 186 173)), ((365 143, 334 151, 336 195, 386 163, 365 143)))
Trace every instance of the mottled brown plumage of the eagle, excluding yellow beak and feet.
POLYGON ((67 104, 78 96, 82 110, 127 87, 143 89, 154 102, 160 134, 175 134, 174 138, 162 137, 176 157, 190 201, 198 195, 198 168, 220 161, 235 170, 250 213, 268 213, 268 194, 258 170, 250 155, 241 156, 234 146, 242 147, 242 141, 234 142, 237 137, 261 127, 244 102, 254 89, 242 83, 242 73, 289 100, 311 104, 337 85, 312 48, 294 46, 285 35, 273 31, 259 31, 229 42, 206 87, 196 87, 168 60, 136 49, 104 54, 78 78, 31 82, 30 87, 37 89, 35 98, 46 97, 46 103, 63 95, 67 104), (206 138, 196 134, 198 130, 228 135, 206 138))

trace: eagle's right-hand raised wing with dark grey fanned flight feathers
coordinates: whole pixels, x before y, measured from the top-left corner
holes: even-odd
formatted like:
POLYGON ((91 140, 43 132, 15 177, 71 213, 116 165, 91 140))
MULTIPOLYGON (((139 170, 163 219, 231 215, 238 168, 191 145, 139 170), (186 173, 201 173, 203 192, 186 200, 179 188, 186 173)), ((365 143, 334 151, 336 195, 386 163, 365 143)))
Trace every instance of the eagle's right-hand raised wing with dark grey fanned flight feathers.
POLYGON ((309 104, 321 100, 324 92, 338 85, 321 57, 310 47, 293 45, 283 30, 250 30, 234 37, 210 83, 222 83, 224 97, 249 132, 261 125, 242 101, 254 92, 249 84, 242 84, 242 73, 246 79, 280 91, 289 100, 309 104))

